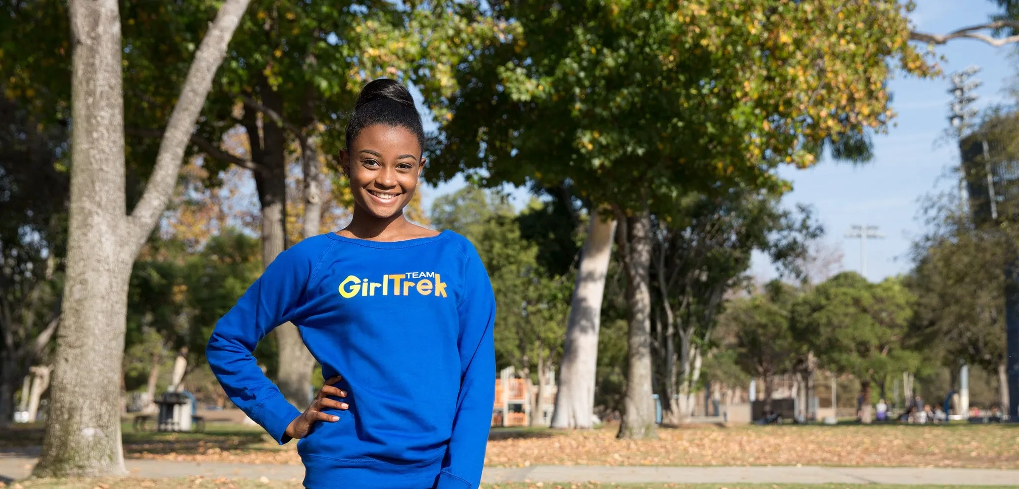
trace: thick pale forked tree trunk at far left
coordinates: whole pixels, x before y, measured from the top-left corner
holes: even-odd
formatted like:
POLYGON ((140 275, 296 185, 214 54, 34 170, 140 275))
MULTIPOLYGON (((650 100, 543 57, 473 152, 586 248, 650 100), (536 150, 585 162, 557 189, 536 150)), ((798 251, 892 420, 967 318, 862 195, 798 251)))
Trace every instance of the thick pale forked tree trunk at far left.
POLYGON ((248 0, 226 0, 170 115, 148 187, 124 194, 122 41, 116 0, 73 0, 66 278, 37 477, 126 474, 120 378, 131 264, 166 208, 195 121, 248 0))

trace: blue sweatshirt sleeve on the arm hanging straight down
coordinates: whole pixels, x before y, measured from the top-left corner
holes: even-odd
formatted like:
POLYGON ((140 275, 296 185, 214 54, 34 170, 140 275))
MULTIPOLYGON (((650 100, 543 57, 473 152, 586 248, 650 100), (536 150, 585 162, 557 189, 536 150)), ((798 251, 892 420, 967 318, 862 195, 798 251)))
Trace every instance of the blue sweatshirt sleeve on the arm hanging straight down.
POLYGON ((464 293, 460 313, 460 395, 449 448, 439 473, 437 489, 474 489, 481 483, 488 429, 495 401, 495 296, 481 258, 467 251, 464 293))

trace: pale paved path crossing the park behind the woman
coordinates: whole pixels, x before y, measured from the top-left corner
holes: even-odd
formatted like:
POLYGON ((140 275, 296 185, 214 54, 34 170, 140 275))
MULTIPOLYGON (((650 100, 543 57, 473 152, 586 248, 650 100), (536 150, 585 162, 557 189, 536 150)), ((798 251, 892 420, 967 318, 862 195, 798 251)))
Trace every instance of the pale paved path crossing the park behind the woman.
MULTIPOLYGON (((0 481, 21 479, 29 475, 36 459, 32 456, 0 452, 0 481)), ((230 477, 300 481, 302 466, 192 463, 164 460, 126 460, 135 477, 230 477)), ((773 483, 773 484, 945 484, 999 485, 1019 484, 1019 471, 986 469, 905 469, 905 468, 828 468, 828 467, 599 467, 535 466, 522 469, 486 468, 485 482, 676 482, 676 483, 773 483)))

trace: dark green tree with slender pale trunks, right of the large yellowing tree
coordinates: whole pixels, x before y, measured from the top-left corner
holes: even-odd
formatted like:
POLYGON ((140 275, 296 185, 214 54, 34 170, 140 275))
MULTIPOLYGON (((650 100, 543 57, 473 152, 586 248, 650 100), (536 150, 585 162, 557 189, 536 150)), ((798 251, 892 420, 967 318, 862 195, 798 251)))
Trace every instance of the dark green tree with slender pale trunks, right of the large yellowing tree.
POLYGON ((783 210, 779 195, 752 188, 688 196, 653 222, 655 385, 663 417, 679 424, 693 409, 723 296, 745 278, 751 254, 766 253, 796 275, 806 242, 823 230, 809 209, 783 210))

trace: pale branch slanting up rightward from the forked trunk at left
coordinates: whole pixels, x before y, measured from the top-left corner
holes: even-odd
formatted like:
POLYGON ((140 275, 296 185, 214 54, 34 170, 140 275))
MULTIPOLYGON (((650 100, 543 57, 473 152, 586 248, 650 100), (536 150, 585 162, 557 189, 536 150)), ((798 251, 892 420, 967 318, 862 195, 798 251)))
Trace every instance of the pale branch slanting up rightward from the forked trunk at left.
POLYGON ((180 90, 180 98, 173 107, 166 132, 160 142, 156 168, 149 177, 149 184, 138 206, 135 207, 135 212, 128 217, 130 250, 133 252, 130 257, 135 257, 142 249, 142 244, 149 237, 149 232, 156 225, 156 220, 166 209, 166 203, 173 194, 184 149, 195 132, 195 121, 202 112, 209 90, 212 89, 212 78, 226 57, 226 47, 233 37, 237 23, 240 22, 240 16, 248 8, 248 2, 249 0, 223 2, 219 12, 216 13, 216 19, 209 26, 205 39, 195 53, 195 60, 180 90))

